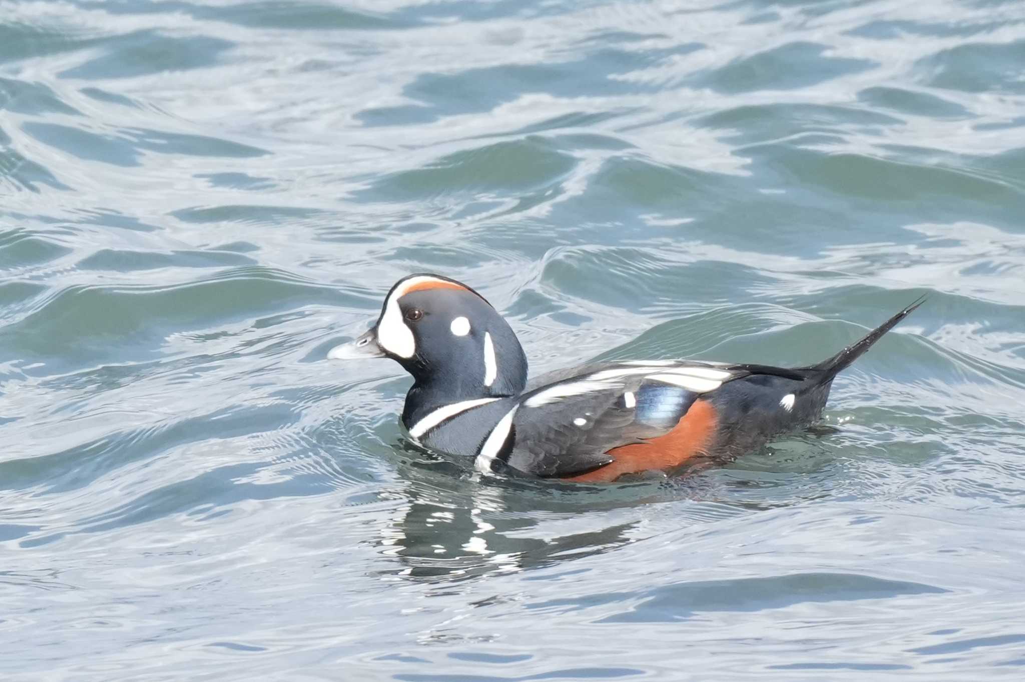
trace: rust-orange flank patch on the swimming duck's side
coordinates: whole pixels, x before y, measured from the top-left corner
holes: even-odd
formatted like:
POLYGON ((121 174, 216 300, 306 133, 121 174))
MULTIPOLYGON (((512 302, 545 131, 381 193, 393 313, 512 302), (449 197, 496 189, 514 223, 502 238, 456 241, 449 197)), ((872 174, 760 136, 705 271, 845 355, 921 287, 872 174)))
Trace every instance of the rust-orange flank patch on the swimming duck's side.
POLYGON ((613 447, 609 455, 616 458, 614 462, 566 480, 608 482, 623 474, 678 467, 705 453, 711 445, 717 424, 715 408, 707 400, 697 400, 668 433, 646 442, 613 447))

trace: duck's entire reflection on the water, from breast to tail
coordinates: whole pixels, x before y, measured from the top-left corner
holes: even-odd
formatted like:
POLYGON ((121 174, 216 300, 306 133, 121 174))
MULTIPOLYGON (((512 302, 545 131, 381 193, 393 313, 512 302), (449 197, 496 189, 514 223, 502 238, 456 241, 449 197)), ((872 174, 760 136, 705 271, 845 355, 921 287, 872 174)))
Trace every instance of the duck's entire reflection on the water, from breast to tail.
POLYGON ((693 503, 672 508, 673 524, 686 525, 828 497, 814 480, 835 460, 816 445, 817 431, 831 430, 777 442, 743 458, 748 465, 695 460, 669 477, 591 485, 482 476, 404 440, 396 443, 400 482, 384 495, 405 504, 376 542, 399 561, 387 572, 424 582, 572 561, 650 536, 650 524, 641 525, 659 513, 646 509, 662 506, 655 503, 693 503))

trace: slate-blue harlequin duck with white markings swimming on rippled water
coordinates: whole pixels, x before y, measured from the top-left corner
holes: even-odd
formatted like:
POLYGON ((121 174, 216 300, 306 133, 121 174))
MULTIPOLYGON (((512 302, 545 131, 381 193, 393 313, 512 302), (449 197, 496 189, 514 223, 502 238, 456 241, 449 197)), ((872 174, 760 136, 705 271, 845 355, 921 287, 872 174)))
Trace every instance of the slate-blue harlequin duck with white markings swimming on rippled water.
POLYGON ((697 360, 581 365, 527 380, 516 334, 483 296, 438 274, 400 280, 377 324, 330 359, 391 357, 413 375, 402 423, 484 472, 612 481, 743 454, 814 422, 836 374, 917 308, 811 367, 697 360))

